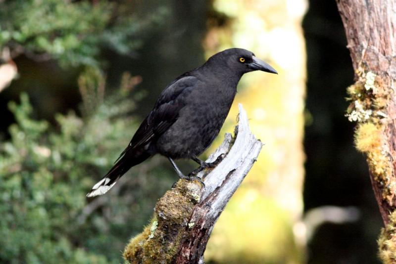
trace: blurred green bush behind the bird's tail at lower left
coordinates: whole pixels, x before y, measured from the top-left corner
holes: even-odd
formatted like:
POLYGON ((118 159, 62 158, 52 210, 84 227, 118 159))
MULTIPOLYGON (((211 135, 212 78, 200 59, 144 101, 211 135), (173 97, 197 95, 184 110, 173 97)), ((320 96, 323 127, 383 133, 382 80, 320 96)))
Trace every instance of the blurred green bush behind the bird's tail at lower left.
POLYGON ((98 103, 83 118, 56 115, 57 128, 31 118, 26 94, 20 104, 9 103, 16 124, 0 144, 1 263, 119 263, 127 239, 149 219, 158 190, 170 185, 167 177, 150 176, 158 173, 153 159, 139 175, 122 178, 118 185, 126 188, 87 203, 87 191, 136 130, 125 117, 134 107, 126 98, 134 78, 124 76, 123 87, 101 102, 98 88, 87 88, 104 83, 91 80, 99 76, 88 70, 80 78, 81 90, 98 103))

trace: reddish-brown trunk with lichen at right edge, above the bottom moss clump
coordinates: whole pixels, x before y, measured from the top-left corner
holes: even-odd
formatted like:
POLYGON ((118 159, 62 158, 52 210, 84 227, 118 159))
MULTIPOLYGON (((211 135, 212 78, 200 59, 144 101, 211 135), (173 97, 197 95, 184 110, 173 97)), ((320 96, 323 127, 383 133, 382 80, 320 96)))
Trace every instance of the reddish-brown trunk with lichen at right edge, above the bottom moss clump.
POLYGON ((374 194, 388 224, 396 209, 396 1, 337 0, 337 5, 355 70, 356 83, 348 88, 355 116, 348 115, 358 122, 356 146, 367 154, 374 194), (378 137, 367 133, 368 124, 378 137))

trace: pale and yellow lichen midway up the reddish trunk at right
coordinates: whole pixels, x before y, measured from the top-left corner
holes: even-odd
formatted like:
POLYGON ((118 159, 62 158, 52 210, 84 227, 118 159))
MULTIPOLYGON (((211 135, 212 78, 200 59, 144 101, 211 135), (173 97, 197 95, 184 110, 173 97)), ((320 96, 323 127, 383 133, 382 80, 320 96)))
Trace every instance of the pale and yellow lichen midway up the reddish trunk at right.
POLYGON ((359 67, 355 74, 357 81, 347 88, 348 120, 357 122, 355 146, 365 153, 373 179, 379 183, 382 199, 394 206, 396 182, 388 142, 383 133, 389 123, 387 102, 392 90, 377 76, 364 67, 359 67))

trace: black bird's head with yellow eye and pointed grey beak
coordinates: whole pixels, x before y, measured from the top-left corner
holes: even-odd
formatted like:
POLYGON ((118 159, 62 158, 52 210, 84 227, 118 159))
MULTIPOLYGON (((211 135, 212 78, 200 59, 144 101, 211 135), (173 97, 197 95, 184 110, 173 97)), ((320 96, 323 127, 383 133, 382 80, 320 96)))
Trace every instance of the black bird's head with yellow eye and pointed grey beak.
POLYGON ((257 58, 253 52, 243 48, 229 48, 214 54, 209 61, 223 61, 225 66, 241 75, 252 71, 278 74, 268 63, 257 58))

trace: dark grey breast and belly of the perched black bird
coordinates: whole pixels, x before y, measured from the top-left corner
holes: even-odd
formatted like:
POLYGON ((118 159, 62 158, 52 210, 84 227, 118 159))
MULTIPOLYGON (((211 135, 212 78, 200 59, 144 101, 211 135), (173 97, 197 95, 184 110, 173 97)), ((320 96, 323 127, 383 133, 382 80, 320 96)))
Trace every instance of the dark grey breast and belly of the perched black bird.
POLYGON ((158 152, 172 158, 201 154, 219 133, 235 92, 192 92, 177 121, 157 141, 158 152))

